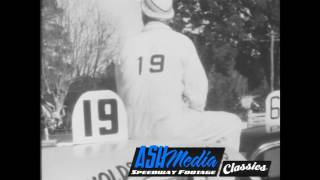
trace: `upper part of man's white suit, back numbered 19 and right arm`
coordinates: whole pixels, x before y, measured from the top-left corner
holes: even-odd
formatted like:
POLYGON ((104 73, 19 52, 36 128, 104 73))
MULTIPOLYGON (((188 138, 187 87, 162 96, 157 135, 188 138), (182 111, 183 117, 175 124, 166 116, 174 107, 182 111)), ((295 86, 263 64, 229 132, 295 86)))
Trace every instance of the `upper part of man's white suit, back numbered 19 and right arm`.
POLYGON ((208 80, 196 48, 161 22, 148 23, 125 44, 116 78, 133 138, 155 138, 163 130, 158 125, 187 123, 185 111, 206 104, 208 80))

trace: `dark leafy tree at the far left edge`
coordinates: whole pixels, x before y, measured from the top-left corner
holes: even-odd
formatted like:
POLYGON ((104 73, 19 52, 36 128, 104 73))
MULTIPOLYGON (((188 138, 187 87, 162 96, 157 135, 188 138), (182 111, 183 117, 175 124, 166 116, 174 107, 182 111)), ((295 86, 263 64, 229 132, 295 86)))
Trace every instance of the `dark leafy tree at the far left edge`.
MULTIPOLYGON (((65 59, 71 51, 68 31, 63 28, 63 9, 55 0, 42 2, 42 63, 41 80, 42 95, 51 94, 54 97, 55 108, 53 119, 61 119, 63 112, 63 94, 66 93, 70 80, 70 69, 65 59)), ((61 122, 61 121, 60 121, 61 122)))

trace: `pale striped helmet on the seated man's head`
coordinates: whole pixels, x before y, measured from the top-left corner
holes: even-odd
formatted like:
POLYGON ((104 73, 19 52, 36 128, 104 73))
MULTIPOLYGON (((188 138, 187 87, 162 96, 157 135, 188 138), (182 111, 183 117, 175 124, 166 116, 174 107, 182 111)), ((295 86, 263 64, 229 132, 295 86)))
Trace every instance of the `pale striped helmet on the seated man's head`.
POLYGON ((142 0, 142 12, 154 19, 171 19, 174 16, 172 0, 142 0))

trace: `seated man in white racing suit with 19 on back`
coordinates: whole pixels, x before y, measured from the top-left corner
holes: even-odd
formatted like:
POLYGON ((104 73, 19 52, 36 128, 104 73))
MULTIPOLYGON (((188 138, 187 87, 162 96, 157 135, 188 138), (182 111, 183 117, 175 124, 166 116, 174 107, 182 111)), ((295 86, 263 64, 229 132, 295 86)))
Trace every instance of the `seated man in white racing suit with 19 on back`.
POLYGON ((132 139, 221 142, 239 150, 241 120, 205 111, 208 79, 193 42, 166 23, 172 0, 142 0, 144 28, 116 65, 117 91, 132 139))

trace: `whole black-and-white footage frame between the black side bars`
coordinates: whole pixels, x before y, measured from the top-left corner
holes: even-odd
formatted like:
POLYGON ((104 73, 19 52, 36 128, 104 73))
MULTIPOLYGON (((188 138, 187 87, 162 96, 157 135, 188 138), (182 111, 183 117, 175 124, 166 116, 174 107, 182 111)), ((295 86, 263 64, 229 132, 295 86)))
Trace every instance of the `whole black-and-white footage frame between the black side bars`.
POLYGON ((280 180, 280 0, 40 11, 42 180, 280 180))

